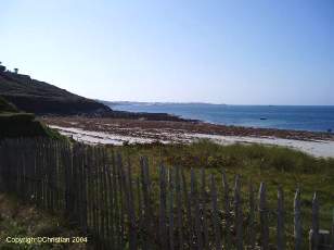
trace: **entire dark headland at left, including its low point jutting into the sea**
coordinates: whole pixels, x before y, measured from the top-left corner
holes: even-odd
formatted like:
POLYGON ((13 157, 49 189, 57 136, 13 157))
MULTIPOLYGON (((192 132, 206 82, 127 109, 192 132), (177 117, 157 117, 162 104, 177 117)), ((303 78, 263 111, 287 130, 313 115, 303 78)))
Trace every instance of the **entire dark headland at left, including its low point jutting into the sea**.
POLYGON ((37 115, 81 115, 88 117, 142 118, 149 121, 182 121, 166 113, 132 113, 114 111, 107 105, 54 85, 11 72, 0 65, 0 96, 20 110, 37 115))

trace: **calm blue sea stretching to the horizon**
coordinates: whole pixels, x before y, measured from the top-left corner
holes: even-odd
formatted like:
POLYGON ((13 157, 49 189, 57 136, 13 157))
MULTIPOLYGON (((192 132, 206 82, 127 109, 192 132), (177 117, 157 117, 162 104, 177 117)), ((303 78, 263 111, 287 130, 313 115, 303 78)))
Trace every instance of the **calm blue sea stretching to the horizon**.
POLYGON ((310 132, 334 132, 334 107, 119 104, 114 110, 169 113, 215 124, 310 132))

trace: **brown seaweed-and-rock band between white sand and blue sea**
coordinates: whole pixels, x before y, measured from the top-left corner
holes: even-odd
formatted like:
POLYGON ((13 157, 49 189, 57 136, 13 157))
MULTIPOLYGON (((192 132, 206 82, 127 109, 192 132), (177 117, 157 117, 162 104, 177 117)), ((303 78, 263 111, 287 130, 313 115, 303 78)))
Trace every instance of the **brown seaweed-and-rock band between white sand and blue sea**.
POLYGON ((334 141, 334 135, 327 133, 224 126, 198 121, 150 121, 143 118, 111 118, 82 116, 44 116, 40 118, 48 125, 55 125, 60 127, 75 127, 84 130, 103 132, 123 136, 149 137, 156 140, 168 139, 169 133, 176 133, 180 135, 207 134, 220 136, 281 138, 304 141, 334 141))

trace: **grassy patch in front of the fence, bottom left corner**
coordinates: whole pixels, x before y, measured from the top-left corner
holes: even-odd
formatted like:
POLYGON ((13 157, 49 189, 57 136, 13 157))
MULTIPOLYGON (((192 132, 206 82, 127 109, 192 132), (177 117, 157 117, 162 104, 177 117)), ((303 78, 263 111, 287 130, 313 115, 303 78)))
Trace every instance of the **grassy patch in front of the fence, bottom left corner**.
MULTIPOLYGON (((18 249, 18 245, 5 242, 7 237, 78 237, 78 229, 60 216, 53 216, 16 197, 0 193, 0 249, 18 249)), ((89 249, 89 245, 20 245, 20 249, 89 249)))

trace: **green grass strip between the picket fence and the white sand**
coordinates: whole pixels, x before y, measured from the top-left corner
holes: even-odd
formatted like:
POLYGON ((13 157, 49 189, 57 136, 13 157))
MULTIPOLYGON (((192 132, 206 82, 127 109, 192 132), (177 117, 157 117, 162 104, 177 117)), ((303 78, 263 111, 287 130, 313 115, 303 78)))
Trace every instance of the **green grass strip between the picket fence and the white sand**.
MULTIPOLYGON (((281 185, 285 195, 286 220, 292 232, 293 199, 297 187, 301 189, 303 225, 309 228, 311 222, 311 200, 319 192, 321 226, 329 228, 334 208, 334 159, 316 159, 299 151, 282 147, 261 145, 219 146, 208 140, 192 145, 146 145, 116 147, 117 151, 129 157, 139 173, 139 158, 147 155, 152 178, 157 179, 159 163, 167 166, 181 166, 185 172, 191 167, 205 167, 221 184, 222 170, 227 173, 230 186, 234 176, 241 175, 245 210, 247 210, 248 184, 258 190, 260 182, 267 184, 268 201, 271 211, 277 209, 277 190, 281 185)), ((189 176, 189 174, 187 175, 189 176)), ((221 189, 221 185, 219 185, 221 189)), ((232 193, 231 193, 232 196, 232 193)), ((272 217, 275 223, 275 216, 272 217)))

